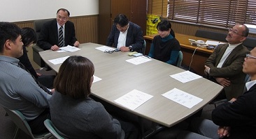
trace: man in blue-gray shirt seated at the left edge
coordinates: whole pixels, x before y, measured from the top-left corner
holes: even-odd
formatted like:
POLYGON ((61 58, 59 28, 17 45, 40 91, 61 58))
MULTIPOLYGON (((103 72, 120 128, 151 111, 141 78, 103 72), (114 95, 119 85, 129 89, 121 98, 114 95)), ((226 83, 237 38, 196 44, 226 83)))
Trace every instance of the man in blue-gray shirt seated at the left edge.
POLYGON ((47 129, 43 121, 50 119, 52 96, 47 88, 36 83, 17 59, 23 55, 20 34, 17 25, 0 22, 0 106, 20 111, 32 133, 44 133, 47 129))

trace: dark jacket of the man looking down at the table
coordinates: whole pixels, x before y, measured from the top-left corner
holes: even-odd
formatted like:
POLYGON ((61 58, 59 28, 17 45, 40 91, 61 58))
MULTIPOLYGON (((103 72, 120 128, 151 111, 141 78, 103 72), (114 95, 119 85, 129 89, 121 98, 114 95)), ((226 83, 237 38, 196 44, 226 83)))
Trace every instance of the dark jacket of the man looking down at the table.
MULTIPOLYGON (((116 28, 115 24, 113 24, 111 33, 108 35, 108 40, 106 45, 109 47, 117 47, 118 46, 118 38, 120 31, 116 28), (113 46, 114 44, 114 46, 113 46)), ((125 42, 125 47, 131 46, 133 51, 137 51, 138 53, 142 53, 144 38, 141 27, 137 24, 129 22, 129 28, 127 31, 127 38, 125 42)))

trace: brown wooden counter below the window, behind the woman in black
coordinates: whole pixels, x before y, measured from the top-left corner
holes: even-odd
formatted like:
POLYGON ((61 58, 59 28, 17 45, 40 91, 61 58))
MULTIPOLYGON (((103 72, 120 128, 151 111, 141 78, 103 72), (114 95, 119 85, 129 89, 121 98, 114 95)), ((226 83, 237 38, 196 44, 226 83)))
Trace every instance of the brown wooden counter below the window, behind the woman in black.
MULTIPOLYGON (((150 51, 150 46, 153 38, 157 34, 144 35, 145 42, 147 43, 145 54, 148 54, 150 51)), ((208 57, 213 53, 213 49, 206 49, 191 45, 189 39, 192 40, 204 40, 206 38, 199 38, 193 35, 185 35, 180 33, 175 33, 175 38, 180 42, 180 50, 183 52, 183 65, 187 65, 194 70, 195 73, 203 76, 204 75, 204 63, 208 57), (193 55, 194 54, 194 55, 193 55)))

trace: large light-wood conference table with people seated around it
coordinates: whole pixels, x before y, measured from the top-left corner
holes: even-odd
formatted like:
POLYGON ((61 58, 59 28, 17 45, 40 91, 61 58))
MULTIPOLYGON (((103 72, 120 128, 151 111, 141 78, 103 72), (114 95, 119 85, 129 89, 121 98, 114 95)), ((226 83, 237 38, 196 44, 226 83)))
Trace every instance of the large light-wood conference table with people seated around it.
MULTIPOLYGON (((74 52, 57 52, 52 50, 39 52, 41 58, 55 72, 61 64, 54 65, 49 60, 65 56, 84 56, 92 60, 95 72, 101 81, 92 84, 92 95, 113 106, 138 115, 157 124, 171 127, 206 106, 222 90, 222 86, 204 78, 182 83, 170 75, 185 72, 178 67, 150 58, 150 61, 138 65, 126 60, 134 58, 129 52, 114 51, 112 54, 96 49, 101 44, 80 44, 80 50, 74 52), (192 108, 171 101, 162 94, 177 88, 202 99, 192 108), (139 90, 153 97, 138 108, 131 110, 115 102, 132 90, 139 90)), ((146 57, 145 57, 146 58, 146 57)), ((72 74, 72 73, 70 73, 72 74)))

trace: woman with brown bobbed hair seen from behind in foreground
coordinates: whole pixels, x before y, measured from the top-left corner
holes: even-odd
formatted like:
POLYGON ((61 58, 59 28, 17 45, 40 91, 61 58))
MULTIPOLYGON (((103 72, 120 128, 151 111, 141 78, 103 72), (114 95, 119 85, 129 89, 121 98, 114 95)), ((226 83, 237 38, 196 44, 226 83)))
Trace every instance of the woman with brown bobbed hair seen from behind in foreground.
POLYGON ((51 120, 64 138, 125 138, 120 122, 89 97, 94 65, 70 56, 59 68, 50 100, 51 120))

